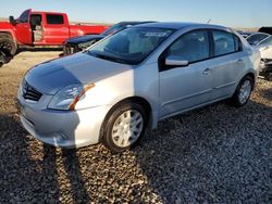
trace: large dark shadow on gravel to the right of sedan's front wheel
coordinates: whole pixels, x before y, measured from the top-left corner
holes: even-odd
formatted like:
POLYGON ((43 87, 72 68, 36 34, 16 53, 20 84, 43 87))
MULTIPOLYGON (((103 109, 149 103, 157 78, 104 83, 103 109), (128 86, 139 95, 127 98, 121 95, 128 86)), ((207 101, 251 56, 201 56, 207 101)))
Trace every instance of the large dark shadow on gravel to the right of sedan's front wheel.
POLYGON ((271 106, 221 102, 160 122, 132 152, 163 203, 265 203, 272 127, 263 117, 271 106))

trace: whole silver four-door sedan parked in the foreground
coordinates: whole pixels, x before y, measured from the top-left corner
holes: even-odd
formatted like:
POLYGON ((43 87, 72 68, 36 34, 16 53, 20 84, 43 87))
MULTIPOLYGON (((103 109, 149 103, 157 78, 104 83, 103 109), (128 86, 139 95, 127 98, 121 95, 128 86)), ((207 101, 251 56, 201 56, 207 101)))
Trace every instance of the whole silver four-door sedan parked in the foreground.
POLYGON ((17 93, 21 120, 45 143, 123 152, 161 119, 225 99, 245 105, 259 62, 231 28, 138 25, 33 67, 17 93))

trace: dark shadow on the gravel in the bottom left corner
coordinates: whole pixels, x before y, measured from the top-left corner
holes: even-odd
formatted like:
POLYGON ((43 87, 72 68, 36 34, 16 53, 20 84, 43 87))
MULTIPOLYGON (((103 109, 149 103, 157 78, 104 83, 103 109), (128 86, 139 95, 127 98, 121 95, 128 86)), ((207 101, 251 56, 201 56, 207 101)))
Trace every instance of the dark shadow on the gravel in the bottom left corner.
POLYGON ((35 160, 42 154, 42 151, 38 146, 35 154, 28 151, 30 138, 22 128, 18 115, 1 114, 0 127, 0 157, 2 158, 0 160, 0 202, 39 202, 45 199, 44 191, 47 192, 48 201, 57 200, 59 186, 54 175, 55 164, 52 158, 35 160), (48 179, 50 182, 45 182, 48 179), (30 196, 32 194, 35 196, 30 196))

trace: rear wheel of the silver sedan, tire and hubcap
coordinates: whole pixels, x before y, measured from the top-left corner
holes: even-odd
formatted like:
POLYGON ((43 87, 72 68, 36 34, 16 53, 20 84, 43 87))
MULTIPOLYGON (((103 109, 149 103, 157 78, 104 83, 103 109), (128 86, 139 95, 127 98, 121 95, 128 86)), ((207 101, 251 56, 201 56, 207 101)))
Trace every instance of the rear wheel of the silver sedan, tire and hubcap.
POLYGON ((244 106, 248 102, 252 89, 254 89, 252 78, 249 76, 245 76, 240 80, 238 87, 236 88, 235 93, 231 98, 230 104, 235 107, 244 106))

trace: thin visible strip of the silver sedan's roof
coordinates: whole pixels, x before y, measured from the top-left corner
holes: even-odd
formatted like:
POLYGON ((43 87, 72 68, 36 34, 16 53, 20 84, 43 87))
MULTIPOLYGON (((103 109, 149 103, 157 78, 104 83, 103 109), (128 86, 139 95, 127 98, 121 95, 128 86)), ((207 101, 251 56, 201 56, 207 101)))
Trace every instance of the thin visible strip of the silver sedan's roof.
POLYGON ((154 27, 154 28, 168 28, 168 29, 182 29, 185 27, 205 27, 214 29, 226 29, 224 26, 212 25, 212 24, 200 24, 189 22, 160 22, 160 23, 148 23, 136 25, 135 27, 154 27))

